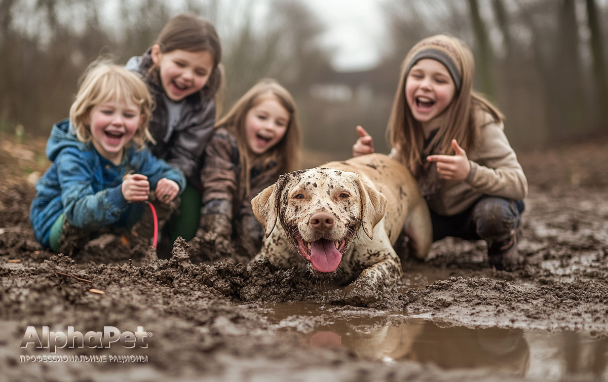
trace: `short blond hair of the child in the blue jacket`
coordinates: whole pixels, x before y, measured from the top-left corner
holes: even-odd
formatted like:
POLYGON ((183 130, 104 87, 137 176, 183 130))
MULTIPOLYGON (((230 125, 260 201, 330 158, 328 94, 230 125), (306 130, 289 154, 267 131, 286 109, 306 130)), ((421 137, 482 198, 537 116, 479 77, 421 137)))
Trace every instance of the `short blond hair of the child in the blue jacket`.
POLYGON ((153 102, 147 86, 133 72, 107 60, 97 60, 89 65, 81 77, 76 100, 70 108, 70 120, 79 141, 91 142, 91 126, 88 124, 91 110, 109 100, 130 100, 139 105, 144 118, 131 142, 139 150, 145 147, 147 141, 155 143, 148 130, 153 102))

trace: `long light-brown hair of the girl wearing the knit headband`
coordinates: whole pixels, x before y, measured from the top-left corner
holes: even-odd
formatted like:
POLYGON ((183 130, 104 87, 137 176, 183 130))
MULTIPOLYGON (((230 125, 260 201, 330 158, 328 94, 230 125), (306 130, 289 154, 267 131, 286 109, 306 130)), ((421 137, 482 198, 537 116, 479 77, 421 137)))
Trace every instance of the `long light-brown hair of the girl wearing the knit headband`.
MULTIPOLYGON (((499 109, 493 106, 481 94, 473 91, 473 76, 475 74, 475 61, 471 49, 458 38, 447 35, 436 35, 419 41, 410 49, 401 65, 399 85, 393 102, 387 126, 387 137, 390 144, 396 149, 398 159, 406 165, 414 176, 420 173, 423 155, 431 153, 454 154, 452 139, 465 151, 474 147, 477 140, 477 111, 489 113, 495 122, 502 122, 504 116, 499 109), (446 113, 446 122, 430 141, 423 153, 424 133, 421 123, 412 115, 407 105, 405 86, 409 68, 414 64, 412 59, 425 49, 441 50, 452 60, 461 77, 460 92, 454 94, 454 99, 443 111, 446 113), (428 151, 428 152, 427 152, 428 151), (434 151, 434 152, 431 152, 434 151)), ((454 77, 452 75, 452 77, 454 77)))

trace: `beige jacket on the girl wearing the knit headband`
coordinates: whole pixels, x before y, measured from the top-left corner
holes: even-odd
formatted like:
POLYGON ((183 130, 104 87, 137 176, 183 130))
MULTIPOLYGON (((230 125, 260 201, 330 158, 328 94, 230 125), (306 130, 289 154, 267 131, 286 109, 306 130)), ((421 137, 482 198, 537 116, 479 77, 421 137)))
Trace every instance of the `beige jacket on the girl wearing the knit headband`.
MULTIPOLYGON (((432 191, 422 191, 429 209, 437 214, 459 214, 483 195, 511 200, 523 200, 528 195, 528 181, 517 162, 515 151, 506 139, 503 123, 494 122, 485 112, 479 114, 478 121, 477 143, 466 153, 471 171, 465 180, 440 179, 434 164, 432 171, 418 177, 421 185, 435 184, 432 191)), ((391 156, 395 154, 393 149, 391 156)))

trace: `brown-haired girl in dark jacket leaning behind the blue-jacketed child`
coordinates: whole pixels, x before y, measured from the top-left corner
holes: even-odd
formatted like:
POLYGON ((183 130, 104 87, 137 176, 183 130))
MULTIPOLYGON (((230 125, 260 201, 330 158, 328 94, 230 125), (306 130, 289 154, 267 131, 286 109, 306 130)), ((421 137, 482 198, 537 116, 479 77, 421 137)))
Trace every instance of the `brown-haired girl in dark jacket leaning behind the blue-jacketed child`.
POLYGON ((222 85, 221 45, 206 19, 181 13, 162 29, 156 43, 126 68, 143 76, 156 103, 150 133, 152 153, 184 172, 187 186, 179 214, 167 224, 171 243, 190 240, 200 220, 201 164, 213 134, 216 102, 222 85))

